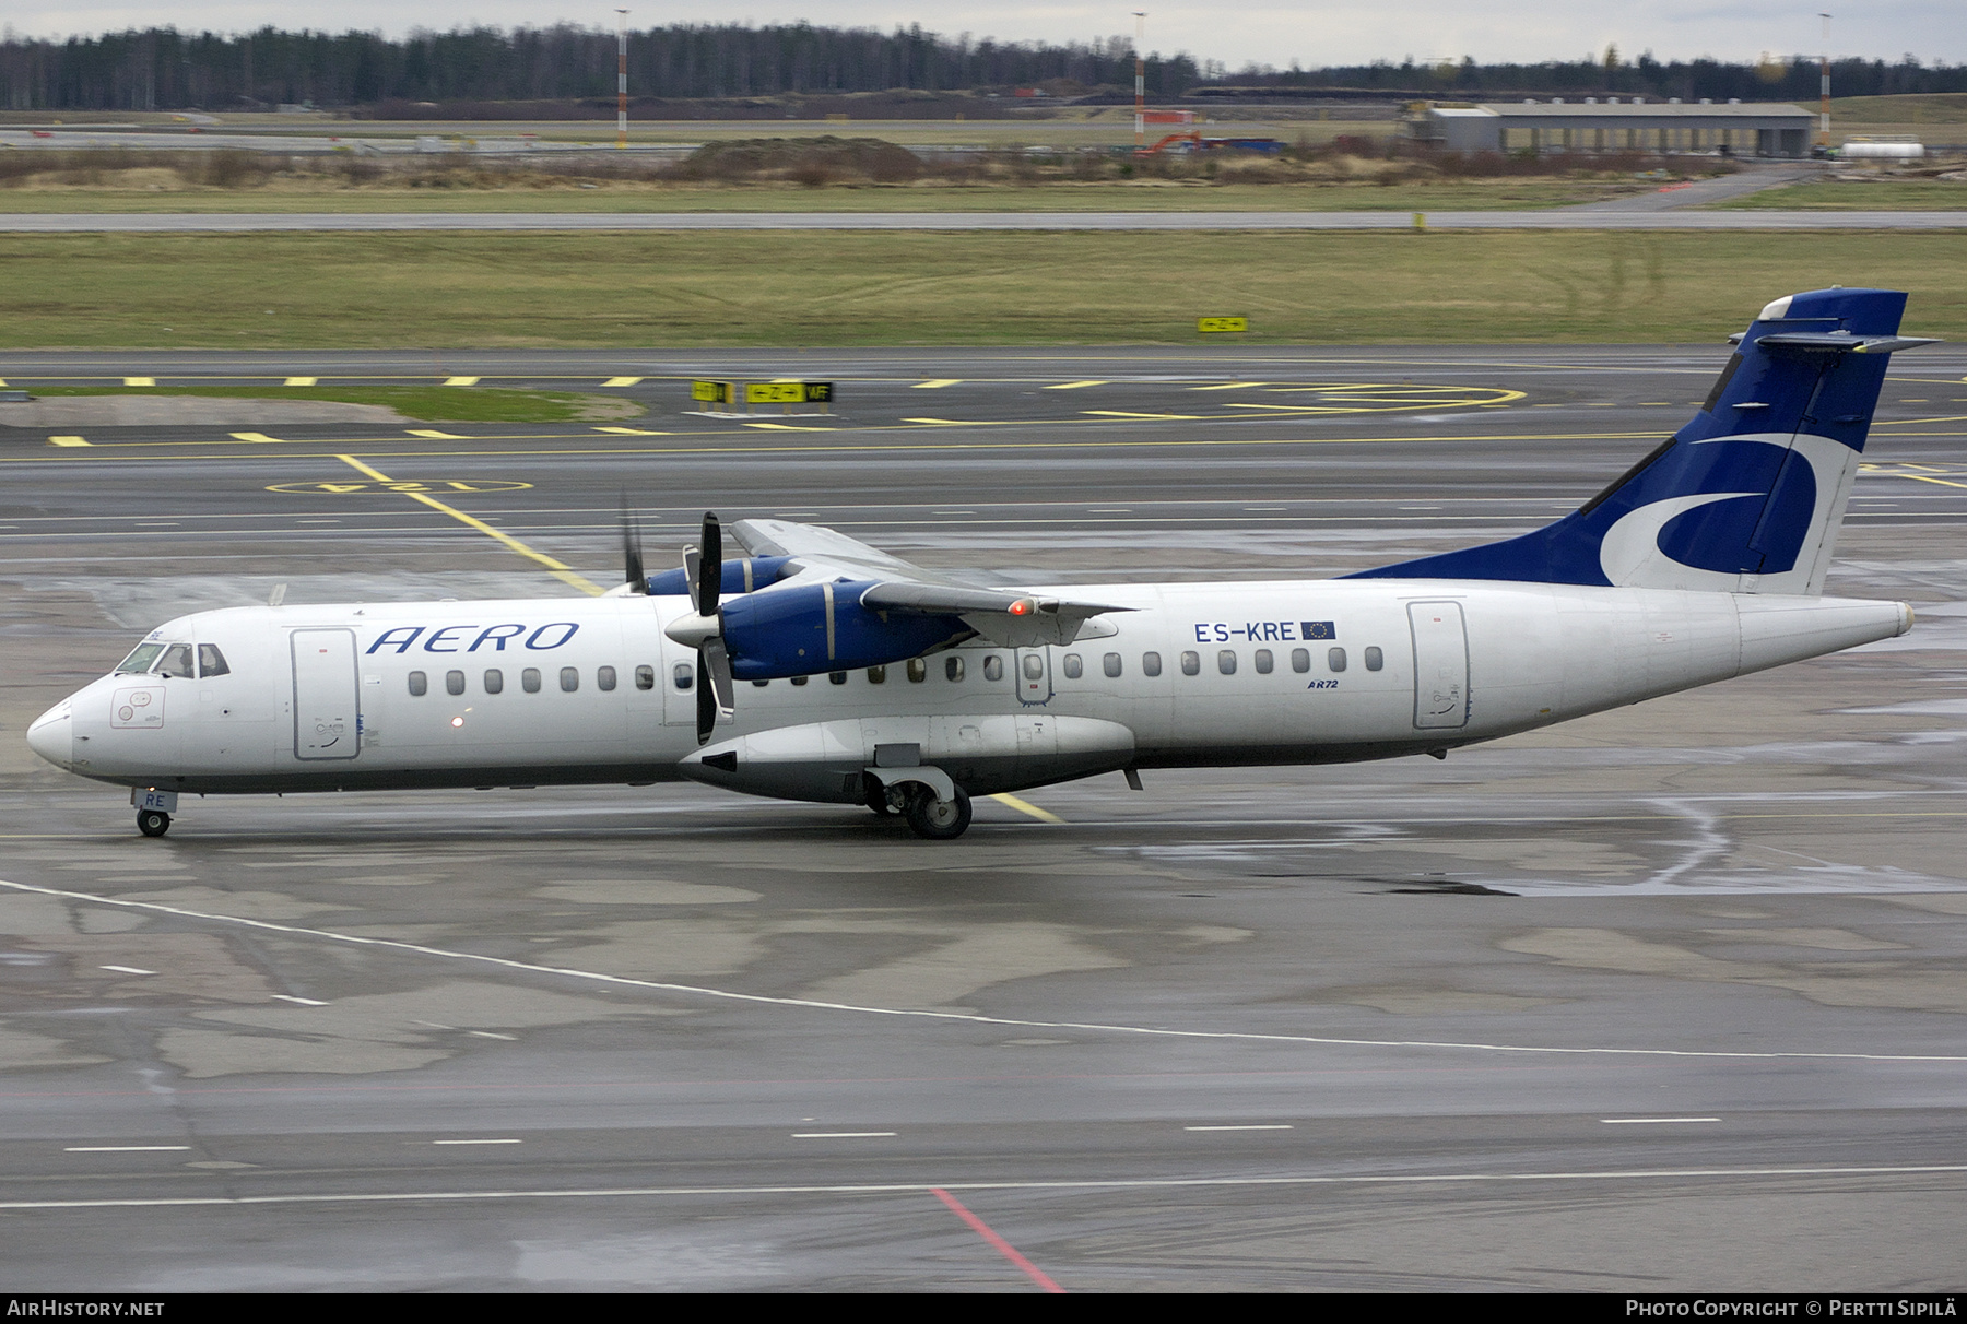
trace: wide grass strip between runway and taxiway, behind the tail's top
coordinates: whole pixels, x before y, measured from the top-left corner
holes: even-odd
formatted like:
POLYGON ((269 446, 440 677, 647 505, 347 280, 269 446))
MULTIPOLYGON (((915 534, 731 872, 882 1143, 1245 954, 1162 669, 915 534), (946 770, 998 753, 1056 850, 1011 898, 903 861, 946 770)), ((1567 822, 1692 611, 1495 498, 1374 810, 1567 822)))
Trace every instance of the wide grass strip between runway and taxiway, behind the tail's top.
POLYGON ((6 348, 1192 344, 1237 315, 1259 344, 1686 342, 1833 283, 1967 334, 1947 232, 16 234, 0 264, 6 348))

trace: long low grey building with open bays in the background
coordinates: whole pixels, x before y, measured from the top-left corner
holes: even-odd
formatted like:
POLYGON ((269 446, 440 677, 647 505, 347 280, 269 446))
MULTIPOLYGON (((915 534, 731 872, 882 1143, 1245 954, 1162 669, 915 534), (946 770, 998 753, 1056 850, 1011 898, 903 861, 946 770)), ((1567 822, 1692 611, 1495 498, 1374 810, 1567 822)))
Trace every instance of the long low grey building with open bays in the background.
POLYGON ((1810 155, 1816 116, 1802 106, 1642 96, 1416 104, 1408 136, 1440 151, 1719 151, 1810 155))

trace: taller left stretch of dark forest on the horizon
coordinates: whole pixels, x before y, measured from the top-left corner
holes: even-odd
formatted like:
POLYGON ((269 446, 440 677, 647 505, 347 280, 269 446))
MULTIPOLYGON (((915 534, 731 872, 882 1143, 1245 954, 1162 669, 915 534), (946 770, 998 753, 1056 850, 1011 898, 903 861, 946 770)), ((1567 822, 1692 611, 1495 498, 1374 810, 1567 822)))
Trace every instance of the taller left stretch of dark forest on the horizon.
MULTIPOLYGON (((1125 81, 1133 43, 1039 45, 948 39, 921 28, 675 26, 631 31, 629 87, 643 96, 954 90, 1125 81)), ((1147 87, 1176 96, 1198 79, 1186 55, 1155 55, 1147 87)), ((238 110, 384 100, 565 100, 616 92, 616 33, 458 28, 389 41, 368 31, 183 33, 175 28, 67 41, 0 41, 10 110, 238 110)))

